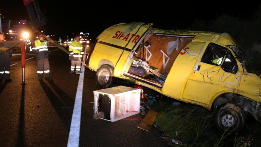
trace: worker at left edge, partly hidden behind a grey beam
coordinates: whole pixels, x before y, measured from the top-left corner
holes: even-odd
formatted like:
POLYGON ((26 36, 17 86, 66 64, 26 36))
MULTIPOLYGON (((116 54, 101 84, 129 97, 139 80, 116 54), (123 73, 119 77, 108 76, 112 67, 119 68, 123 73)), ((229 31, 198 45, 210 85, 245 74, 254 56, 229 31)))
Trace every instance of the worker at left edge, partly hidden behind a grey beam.
MULTIPOLYGON (((0 41, 6 41, 4 33, 0 32, 0 41)), ((9 53, 11 50, 5 52, 7 48, 0 48, 0 84, 5 79, 6 82, 11 82, 10 79, 10 61, 9 53), (2 53, 1 53, 2 52, 2 53)))

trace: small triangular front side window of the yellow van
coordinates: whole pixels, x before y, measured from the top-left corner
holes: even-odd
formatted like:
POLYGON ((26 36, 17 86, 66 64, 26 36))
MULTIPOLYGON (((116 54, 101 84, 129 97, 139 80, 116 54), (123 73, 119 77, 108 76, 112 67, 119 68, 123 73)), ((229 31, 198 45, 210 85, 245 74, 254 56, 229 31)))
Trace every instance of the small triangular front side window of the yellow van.
POLYGON ((232 53, 230 52, 230 50, 227 51, 225 61, 223 62, 221 67, 225 72, 231 72, 233 74, 238 72, 237 62, 236 62, 235 58, 233 57, 232 53))

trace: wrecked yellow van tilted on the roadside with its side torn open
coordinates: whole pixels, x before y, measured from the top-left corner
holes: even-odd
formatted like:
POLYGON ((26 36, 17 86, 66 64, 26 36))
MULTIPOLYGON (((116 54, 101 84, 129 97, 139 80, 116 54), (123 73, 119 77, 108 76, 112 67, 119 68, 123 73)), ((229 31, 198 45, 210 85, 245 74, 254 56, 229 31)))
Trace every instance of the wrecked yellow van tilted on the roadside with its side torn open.
POLYGON ((120 23, 97 37, 86 63, 101 87, 128 80, 213 110, 219 132, 238 132, 247 113, 261 120, 261 79, 242 66, 241 51, 227 33, 120 23))

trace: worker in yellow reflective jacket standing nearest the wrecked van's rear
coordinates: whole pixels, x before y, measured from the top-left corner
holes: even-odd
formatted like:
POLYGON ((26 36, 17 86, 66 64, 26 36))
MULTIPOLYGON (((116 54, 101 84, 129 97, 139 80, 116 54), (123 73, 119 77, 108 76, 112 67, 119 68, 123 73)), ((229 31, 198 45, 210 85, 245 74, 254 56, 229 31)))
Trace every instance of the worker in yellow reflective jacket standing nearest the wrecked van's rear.
MULTIPOLYGON (((82 51, 82 44, 80 43, 80 36, 76 35, 74 41, 71 42, 69 46, 69 52, 71 56, 76 57, 78 60, 82 61, 82 56, 84 52, 82 51)), ((75 73, 79 74, 81 73, 81 62, 76 60, 73 57, 69 57, 69 60, 71 60, 71 71, 70 73, 74 73, 74 69, 76 67, 75 73)))

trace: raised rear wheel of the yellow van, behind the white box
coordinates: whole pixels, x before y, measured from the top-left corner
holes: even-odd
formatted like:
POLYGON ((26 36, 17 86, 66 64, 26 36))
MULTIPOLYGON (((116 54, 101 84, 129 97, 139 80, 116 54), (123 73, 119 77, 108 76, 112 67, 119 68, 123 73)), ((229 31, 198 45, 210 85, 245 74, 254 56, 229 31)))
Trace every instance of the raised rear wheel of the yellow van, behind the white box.
POLYGON ((113 67, 110 65, 102 65, 96 72, 96 84, 101 88, 113 86, 113 67))

